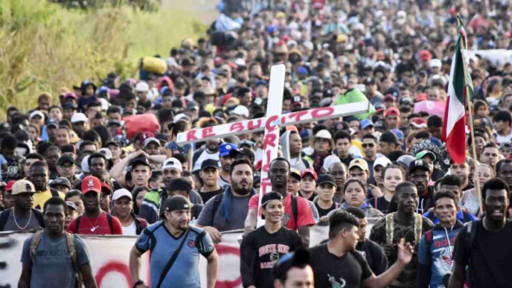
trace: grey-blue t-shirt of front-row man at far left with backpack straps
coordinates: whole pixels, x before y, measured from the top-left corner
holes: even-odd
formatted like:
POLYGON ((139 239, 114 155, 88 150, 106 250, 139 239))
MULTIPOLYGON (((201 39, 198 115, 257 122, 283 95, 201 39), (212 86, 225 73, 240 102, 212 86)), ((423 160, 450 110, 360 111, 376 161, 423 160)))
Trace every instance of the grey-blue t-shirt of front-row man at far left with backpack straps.
MULTIPOLYGON (((78 235, 75 236, 78 266, 89 263, 86 243, 78 235)), ((30 264, 30 243, 32 237, 23 242, 22 263, 30 264)), ((75 273, 66 244, 66 236, 51 239, 46 233, 41 235, 32 263, 30 286, 38 288, 74 288, 75 273)))

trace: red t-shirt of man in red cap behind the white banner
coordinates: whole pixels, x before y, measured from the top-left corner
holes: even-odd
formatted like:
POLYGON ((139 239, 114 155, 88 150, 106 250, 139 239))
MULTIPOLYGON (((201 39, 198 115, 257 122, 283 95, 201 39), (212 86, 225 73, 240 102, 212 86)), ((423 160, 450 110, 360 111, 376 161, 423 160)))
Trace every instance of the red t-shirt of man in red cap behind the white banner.
MULTIPOLYGON (((75 233, 76 219, 71 221, 68 226, 68 233, 75 233)), ((110 229, 109 220, 106 219, 106 213, 102 213, 97 218, 87 218, 85 215, 80 216, 80 227, 78 234, 84 235, 122 235, 123 228, 121 221, 116 216, 112 216, 112 230, 110 229)))

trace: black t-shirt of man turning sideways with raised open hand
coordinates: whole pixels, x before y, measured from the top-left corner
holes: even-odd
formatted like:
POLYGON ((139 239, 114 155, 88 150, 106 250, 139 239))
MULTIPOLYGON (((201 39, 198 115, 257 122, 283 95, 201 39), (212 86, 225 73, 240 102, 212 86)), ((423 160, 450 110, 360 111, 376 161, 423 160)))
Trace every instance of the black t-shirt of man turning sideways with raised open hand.
POLYGON ((372 276, 372 271, 357 251, 350 251, 342 257, 331 254, 327 243, 308 249, 311 255, 311 268, 315 287, 359 288, 361 283, 372 276))

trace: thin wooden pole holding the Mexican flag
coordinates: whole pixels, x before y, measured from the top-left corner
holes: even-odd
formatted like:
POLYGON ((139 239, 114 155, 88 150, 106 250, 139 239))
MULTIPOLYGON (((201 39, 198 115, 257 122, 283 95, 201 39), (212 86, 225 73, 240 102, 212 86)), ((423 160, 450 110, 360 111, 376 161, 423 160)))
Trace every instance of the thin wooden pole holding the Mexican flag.
MULTIPOLYGON (((460 18, 460 15, 457 15, 457 22, 459 24, 459 26, 462 26, 464 27, 463 23, 462 23, 462 19, 460 18)), ((459 31, 460 33, 460 31, 459 31)), ((465 30, 464 30, 464 34, 465 34, 465 30)), ((463 46, 464 46, 464 50, 467 51, 467 43, 466 43, 466 35, 464 35, 464 43, 463 43, 463 46)), ((462 47, 461 47, 461 50, 462 50, 462 47)), ((467 66, 466 66, 466 62, 465 62, 465 57, 464 57, 464 53, 461 52, 461 55, 462 55, 462 67, 464 67, 464 81, 467 82, 467 80, 471 79, 471 77, 468 77, 468 72, 467 72, 467 66)), ((474 159, 474 165, 475 165, 475 170, 474 170, 474 173, 473 175, 477 175, 478 177, 478 157, 477 157, 477 149, 476 149, 476 146, 475 146, 475 128, 473 126, 473 104, 471 102, 471 95, 470 95, 470 87, 468 86, 468 84, 466 83, 465 85, 465 88, 464 88, 464 91, 466 92, 466 102, 467 102, 467 114, 468 114, 468 122, 470 122, 470 133, 471 133, 471 150, 472 150, 472 154, 473 154, 473 159, 474 159)), ((478 204, 479 204, 479 207, 480 207, 480 212, 479 212, 479 215, 477 216, 481 216, 482 213, 483 213, 483 209, 482 209, 482 193, 480 191, 480 182, 477 180, 477 181, 473 181, 475 183, 475 190, 477 191, 477 195, 478 195, 478 204)))

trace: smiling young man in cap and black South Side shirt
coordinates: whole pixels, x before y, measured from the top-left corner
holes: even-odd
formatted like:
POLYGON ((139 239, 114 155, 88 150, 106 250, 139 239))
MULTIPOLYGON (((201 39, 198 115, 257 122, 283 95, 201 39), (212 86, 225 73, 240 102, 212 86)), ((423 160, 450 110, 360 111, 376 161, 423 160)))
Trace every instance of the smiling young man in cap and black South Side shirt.
POLYGON ((283 196, 268 192, 261 202, 265 225, 248 233, 240 245, 240 273, 244 287, 273 287, 271 272, 276 262, 302 247, 298 233, 282 225, 283 196))

